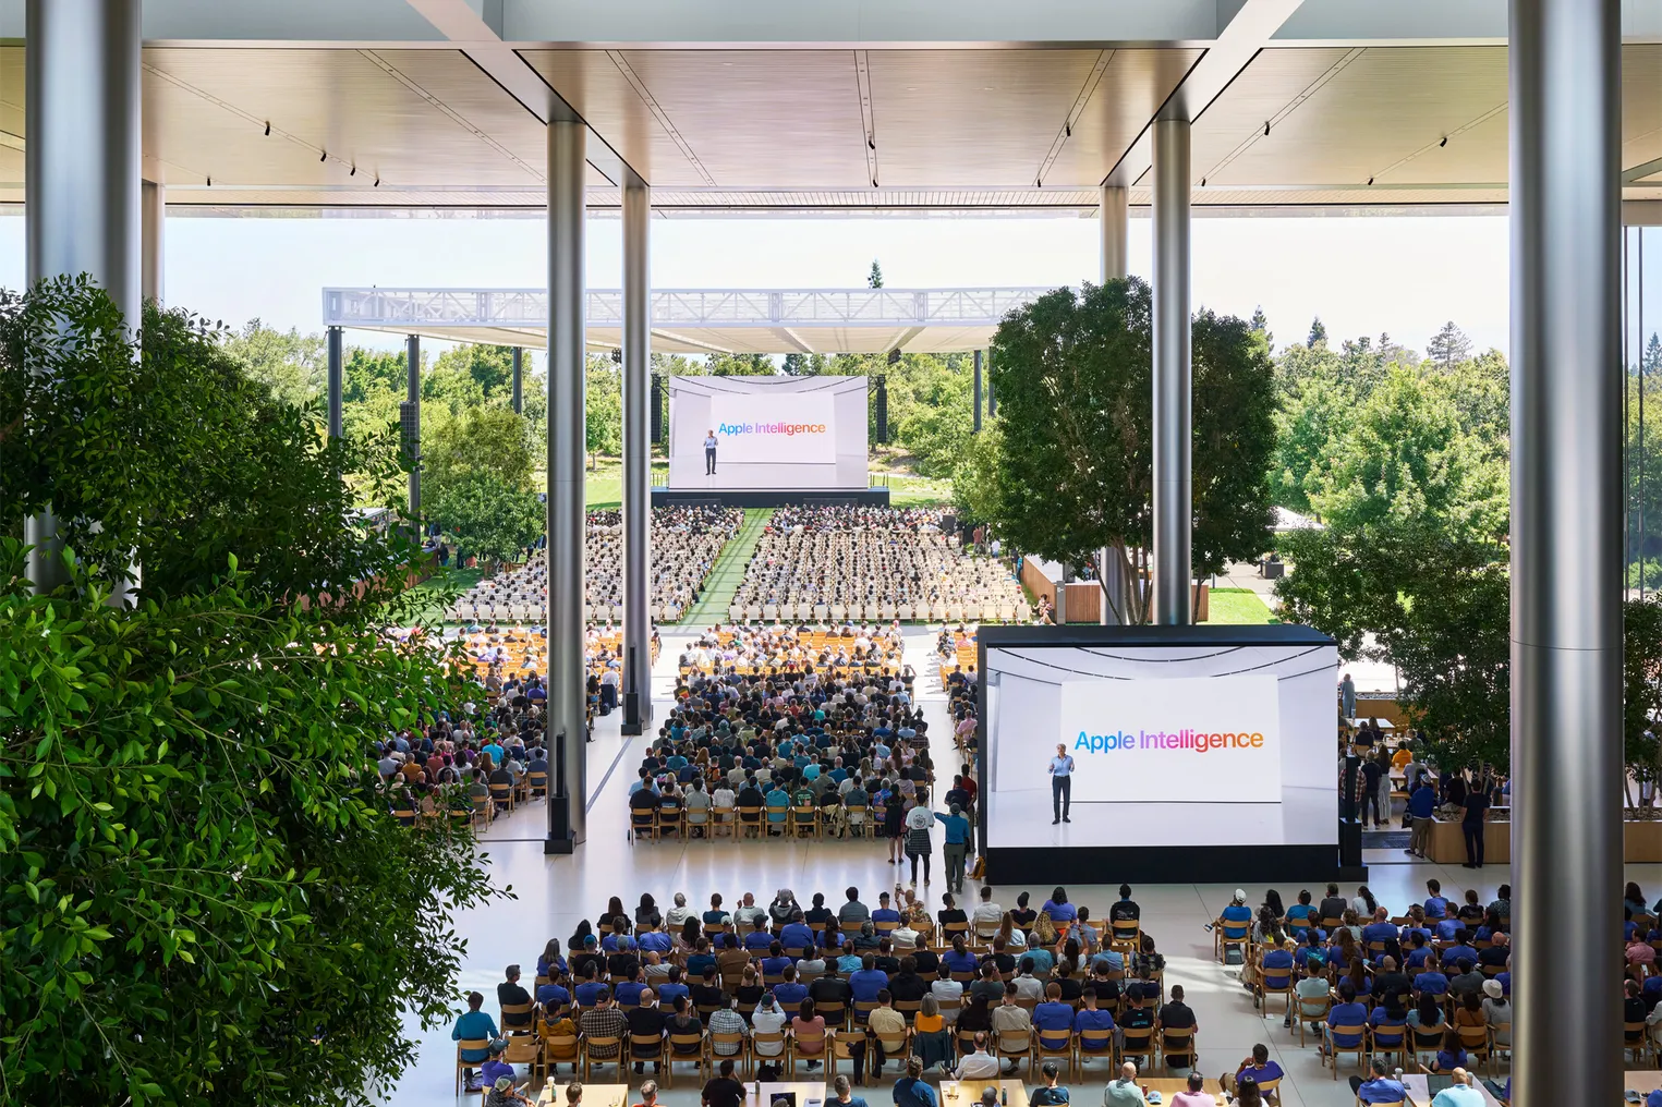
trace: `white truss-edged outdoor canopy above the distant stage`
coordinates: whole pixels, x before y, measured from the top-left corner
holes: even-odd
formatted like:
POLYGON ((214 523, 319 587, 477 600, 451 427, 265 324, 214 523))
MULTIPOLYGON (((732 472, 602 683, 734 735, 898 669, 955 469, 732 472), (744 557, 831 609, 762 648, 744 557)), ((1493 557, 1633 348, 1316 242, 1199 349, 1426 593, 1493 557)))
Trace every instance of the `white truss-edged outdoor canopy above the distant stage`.
MULTIPOLYGON (((1047 288, 656 289, 652 347, 665 354, 946 354, 984 349, 999 321, 1047 288)), ((623 296, 588 289, 590 349, 622 344, 623 296)), ((543 346, 540 289, 329 288, 324 326, 454 342, 543 346)))

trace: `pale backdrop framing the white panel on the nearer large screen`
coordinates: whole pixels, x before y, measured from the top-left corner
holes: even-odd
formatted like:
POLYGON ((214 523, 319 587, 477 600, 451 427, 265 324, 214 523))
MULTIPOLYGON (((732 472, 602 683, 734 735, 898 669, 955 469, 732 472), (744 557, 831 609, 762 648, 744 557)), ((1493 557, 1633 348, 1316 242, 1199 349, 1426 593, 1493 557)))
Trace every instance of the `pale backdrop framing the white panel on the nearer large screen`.
MULTIPOLYGON (((986 652, 987 846, 1290 846, 1336 841, 1335 745, 1338 647, 1114 645, 989 647, 986 652), (1062 728, 1062 683, 1233 675, 1273 676, 1280 715, 1280 786, 1237 783, 1225 800, 1082 801, 1052 826, 1050 776, 1062 728)), ((1220 698, 1227 683, 1218 685, 1220 698)), ((1094 731, 1095 733, 1095 731, 1094 731)), ((1175 753, 1162 776, 1182 786, 1195 753, 1175 753)), ((1213 756, 1213 755, 1205 755, 1213 756)), ((1075 760, 1080 760, 1075 755, 1075 760)), ((1152 781, 1150 781, 1152 785, 1152 781)), ((1153 793, 1150 793, 1153 795, 1153 793)))

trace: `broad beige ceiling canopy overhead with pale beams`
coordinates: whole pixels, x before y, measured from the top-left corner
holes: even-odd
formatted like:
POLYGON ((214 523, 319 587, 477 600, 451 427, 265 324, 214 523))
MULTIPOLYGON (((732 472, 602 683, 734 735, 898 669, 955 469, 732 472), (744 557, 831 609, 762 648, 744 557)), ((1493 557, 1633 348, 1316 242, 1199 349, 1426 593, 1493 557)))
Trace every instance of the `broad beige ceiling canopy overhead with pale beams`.
MULTIPOLYGON (((1662 196, 1662 15, 1624 5, 1625 198, 1662 196)), ((1157 113, 1195 206, 1496 204, 1497 0, 146 0, 145 175, 178 209, 547 203, 658 214, 1090 213, 1148 198, 1157 113), (211 181, 211 183, 209 183, 211 181)), ((22 201, 23 2, 0 0, 0 201, 22 201)), ((1602 166, 1587 166, 1589 173, 1602 166)))

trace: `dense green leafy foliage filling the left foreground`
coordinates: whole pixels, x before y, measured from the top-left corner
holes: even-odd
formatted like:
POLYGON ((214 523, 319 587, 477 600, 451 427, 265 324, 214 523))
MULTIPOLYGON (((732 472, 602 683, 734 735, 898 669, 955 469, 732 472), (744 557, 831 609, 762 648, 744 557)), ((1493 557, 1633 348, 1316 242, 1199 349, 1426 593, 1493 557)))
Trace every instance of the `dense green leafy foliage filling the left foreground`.
POLYGON ((367 758, 462 690, 376 632, 417 552, 349 524, 367 462, 199 321, 143 322, 0 294, 0 1100, 364 1102, 406 1016, 450 1017, 452 914, 500 894, 367 758), (78 560, 35 595, 10 535, 45 502, 78 560))

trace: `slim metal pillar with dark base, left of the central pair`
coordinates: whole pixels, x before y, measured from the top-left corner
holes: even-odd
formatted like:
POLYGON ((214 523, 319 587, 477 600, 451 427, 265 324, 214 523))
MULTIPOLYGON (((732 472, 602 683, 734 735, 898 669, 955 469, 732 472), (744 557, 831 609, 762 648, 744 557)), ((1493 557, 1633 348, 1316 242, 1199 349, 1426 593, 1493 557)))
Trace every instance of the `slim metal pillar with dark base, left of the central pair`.
POLYGON ((587 836, 583 145, 582 123, 548 123, 548 733, 558 761, 543 853, 570 853, 587 836))

